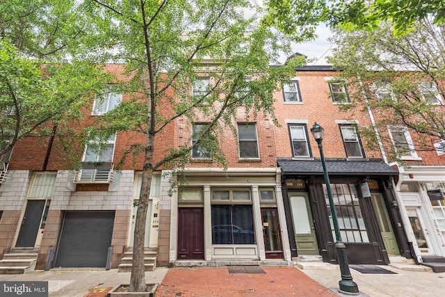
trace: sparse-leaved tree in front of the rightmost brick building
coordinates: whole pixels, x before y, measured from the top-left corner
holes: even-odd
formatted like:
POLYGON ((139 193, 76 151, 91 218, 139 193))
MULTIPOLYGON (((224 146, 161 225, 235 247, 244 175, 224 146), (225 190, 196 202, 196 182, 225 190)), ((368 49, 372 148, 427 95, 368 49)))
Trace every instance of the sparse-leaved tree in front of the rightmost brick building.
MULTIPOLYGON (((403 125, 418 150, 435 150, 445 139, 444 29, 427 18, 399 37, 389 24, 372 33, 337 31, 332 41, 338 47, 329 61, 342 70, 339 77, 348 81, 352 101, 342 107, 358 112, 364 106, 362 111, 375 115, 375 126, 362 127, 362 136, 375 139, 378 131, 383 143, 391 144, 387 127, 403 125)), ((387 152, 393 160, 401 153, 391 146, 387 152)))

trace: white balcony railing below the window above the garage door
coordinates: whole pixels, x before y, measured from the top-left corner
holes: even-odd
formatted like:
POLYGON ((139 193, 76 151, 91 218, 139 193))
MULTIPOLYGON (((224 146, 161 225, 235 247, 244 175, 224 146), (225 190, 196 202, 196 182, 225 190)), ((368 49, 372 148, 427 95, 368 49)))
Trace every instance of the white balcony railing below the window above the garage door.
POLYGON ((74 184, 110 184, 113 182, 113 163, 82 163, 82 168, 74 170, 74 184))

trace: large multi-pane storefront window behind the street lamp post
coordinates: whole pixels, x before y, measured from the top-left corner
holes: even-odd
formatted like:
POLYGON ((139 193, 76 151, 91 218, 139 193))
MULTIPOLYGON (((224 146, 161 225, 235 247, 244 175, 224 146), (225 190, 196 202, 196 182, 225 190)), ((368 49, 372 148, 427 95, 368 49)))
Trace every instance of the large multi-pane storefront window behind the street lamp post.
MULTIPOLYGON (((330 210, 330 202, 327 197, 326 185, 323 184, 323 192, 327 207, 327 214, 332 230, 332 237, 335 239, 334 223, 330 210)), ((359 205, 359 194, 354 184, 331 184, 332 200, 334 201, 341 239, 344 242, 369 243, 368 232, 362 210, 359 205)))

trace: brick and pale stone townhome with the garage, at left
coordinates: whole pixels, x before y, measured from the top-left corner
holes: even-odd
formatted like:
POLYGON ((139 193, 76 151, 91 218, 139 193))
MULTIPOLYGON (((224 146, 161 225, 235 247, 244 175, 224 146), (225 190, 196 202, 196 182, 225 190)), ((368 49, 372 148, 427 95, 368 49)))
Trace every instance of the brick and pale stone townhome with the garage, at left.
MULTIPOLYGON (((123 67, 108 65, 106 71, 122 74, 123 67)), ((85 127, 127 99, 126 94, 110 91, 104 96, 85 111, 85 127)), ((170 127, 159 136, 155 160, 172 145, 168 134, 172 135, 170 127)), ((139 197, 143 162, 140 156, 119 170, 113 162, 122 158, 129 145, 144 139, 136 133, 118 133, 108 138, 100 153, 92 150, 94 141, 73 147, 81 156, 81 168, 65 161, 59 137, 19 141, 8 167, 1 168, 1 254, 38 253, 40 269, 47 265, 118 267, 132 246, 133 205, 139 197)), ((160 188, 161 174, 155 172, 145 232, 145 246, 152 248, 158 240, 160 188)))

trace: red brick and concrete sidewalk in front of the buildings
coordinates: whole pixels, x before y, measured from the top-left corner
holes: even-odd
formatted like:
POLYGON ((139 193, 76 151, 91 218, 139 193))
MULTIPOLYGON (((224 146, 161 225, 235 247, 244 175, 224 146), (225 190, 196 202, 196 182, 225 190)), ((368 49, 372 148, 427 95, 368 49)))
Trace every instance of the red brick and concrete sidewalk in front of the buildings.
MULTIPOLYGON (((351 269, 360 296, 442 297, 445 273, 405 271, 380 266, 396 274, 362 274, 351 269)), ((145 273, 158 283, 156 297, 165 296, 346 296, 338 293, 339 266, 318 268, 261 267, 265 273, 229 273, 227 267, 162 268, 145 273)), ((130 273, 118 269, 51 269, 23 275, 0 275, 0 281, 48 281, 49 296, 104 297, 119 284, 129 284, 130 273)))

